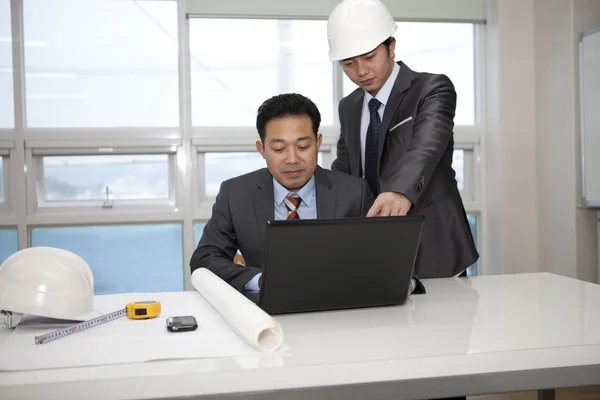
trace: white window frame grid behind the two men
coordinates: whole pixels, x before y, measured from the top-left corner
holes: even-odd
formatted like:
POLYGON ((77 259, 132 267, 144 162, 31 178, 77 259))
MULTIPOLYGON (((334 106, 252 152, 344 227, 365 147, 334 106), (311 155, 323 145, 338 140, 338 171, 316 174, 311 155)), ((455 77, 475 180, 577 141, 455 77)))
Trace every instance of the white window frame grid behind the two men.
MULTIPOLYGON (((191 86, 190 86, 190 33, 189 19, 194 17, 190 15, 191 9, 189 4, 196 2, 198 4, 209 4, 211 7, 221 7, 226 9, 224 14, 212 14, 214 17, 224 18, 262 18, 262 19, 310 19, 310 20, 325 20, 326 14, 314 15, 312 5, 318 4, 323 8, 321 2, 310 0, 309 3, 278 3, 278 9, 282 12, 274 12, 271 8, 248 8, 246 2, 235 0, 235 3, 244 5, 246 13, 241 9, 235 9, 231 6, 217 4, 214 2, 206 2, 206 0, 171 0, 177 1, 177 19, 178 19, 178 79, 179 79, 179 124, 173 128, 153 128, 153 127, 131 127, 131 128, 27 128, 26 126, 26 103, 25 96, 25 77, 24 77, 24 40, 23 40, 23 1, 10 0, 11 4, 11 31, 12 31, 12 70, 13 70, 13 90, 14 90, 14 129, 0 129, 0 138, 6 138, 14 141, 14 149, 10 151, 9 179, 5 181, 5 188, 10 190, 10 195, 5 196, 12 202, 12 213, 4 215, 0 213, 0 226, 17 227, 19 234, 19 246, 25 248, 28 243, 28 231, 30 228, 42 226, 72 226, 72 225, 96 225, 96 224, 128 224, 128 223, 155 223, 155 222, 181 222, 183 224, 183 256, 184 256, 184 278, 185 288, 193 289, 190 282, 190 271, 188 261, 197 245, 194 240, 194 223, 205 223, 211 214, 212 204, 207 204, 205 208, 200 207, 199 197, 196 189, 199 184, 204 187, 204 170, 202 165, 198 163, 198 146, 211 140, 221 139, 220 145, 230 145, 227 151, 235 149, 239 135, 231 132, 231 138, 224 138, 222 134, 228 128, 218 128, 219 132, 213 130, 210 132, 202 132, 203 130, 211 130, 212 128, 193 128, 191 122, 191 86), (299 7, 299 8, 298 8, 299 7), (304 9, 307 14, 294 13, 293 9, 304 9), (217 132, 215 134, 215 132, 217 132), (220 136, 220 138, 218 137, 220 136), (223 140, 224 139, 224 140, 223 140), (176 211, 168 209, 160 209, 156 211, 135 210, 136 212, 120 212, 119 210, 105 210, 110 212, 96 212, 93 214, 87 213, 85 209, 80 207, 76 209, 64 209, 61 212, 37 213, 34 212, 34 207, 30 204, 32 198, 31 184, 35 184, 35 176, 32 174, 33 163, 31 154, 27 157, 29 150, 34 148, 55 148, 55 149, 71 149, 74 148, 89 148, 89 147, 144 147, 148 143, 157 145, 157 143, 167 142, 166 146, 171 146, 172 142, 177 142, 178 150, 176 153, 178 207, 176 211), (195 144, 193 142, 195 141, 195 144), (10 182, 10 183, 9 183, 10 182), (10 196, 10 197, 9 197, 10 196), (25 203, 27 202, 27 203, 25 203), (202 212, 200 212, 202 210, 202 212)), ((335 0, 332 1, 331 7, 325 6, 327 13, 333 7, 335 0)), ((198 7, 196 7, 198 9, 198 7)), ((206 9, 202 9, 202 12, 206 9)), ((210 13, 209 13, 210 14, 210 13)), ((417 13, 418 14, 418 13, 417 13)), ((209 16, 206 13, 198 16, 209 16)), ((396 17, 398 17, 396 15, 396 17)), ((395 18, 402 20, 401 18, 395 18)), ((413 15, 411 18, 404 20, 429 22, 424 15, 413 15)), ((440 22, 452 22, 451 20, 440 22)), ((487 229, 487 214, 485 208, 484 196, 485 192, 481 190, 485 184, 485 67, 486 67, 486 51, 485 51, 485 21, 483 20, 457 20, 457 22, 472 22, 474 23, 474 62, 475 62, 475 125, 473 126, 457 126, 455 127, 455 143, 457 148, 461 144, 471 144, 473 146, 473 182, 474 182, 474 197, 475 201, 465 199, 465 209, 469 214, 477 215, 478 217, 478 246, 484 253, 483 260, 478 264, 478 273, 485 274, 485 258, 487 256, 486 243, 489 235, 487 229), (485 228, 485 229, 484 229, 485 228), (482 238, 484 239, 482 241, 482 238)), ((333 91, 333 126, 323 126, 321 131, 324 136, 324 142, 330 143, 330 152, 323 154, 323 165, 330 167, 331 162, 336 156, 336 143, 339 136, 339 116, 338 107, 339 100, 342 98, 342 78, 343 72, 338 63, 331 63, 332 83, 331 90, 333 91)), ((244 146, 241 149, 244 151, 255 151, 254 142, 258 137, 255 127, 248 126, 238 128, 245 130, 245 134, 252 137, 251 140, 243 142, 244 146), (250 143, 248 145, 248 143, 250 143)), ((216 146, 216 145, 214 145, 216 146)), ((215 148, 215 147, 211 147, 215 148)), ((323 149, 322 149, 323 150, 323 149)), ((77 154, 73 154, 77 155, 77 154)), ((6 172, 5 172, 6 174, 6 172)), ((465 175, 467 171, 465 171, 465 175)), ((465 176, 465 179, 466 176, 465 176)), ((171 185, 171 187, 174 187, 171 185)), ((35 186, 33 187, 35 189, 35 186)), ((214 200, 214 199, 213 199, 214 200)), ((210 199, 208 200, 210 201, 210 199)), ((53 210, 55 211, 55 210, 53 210)))

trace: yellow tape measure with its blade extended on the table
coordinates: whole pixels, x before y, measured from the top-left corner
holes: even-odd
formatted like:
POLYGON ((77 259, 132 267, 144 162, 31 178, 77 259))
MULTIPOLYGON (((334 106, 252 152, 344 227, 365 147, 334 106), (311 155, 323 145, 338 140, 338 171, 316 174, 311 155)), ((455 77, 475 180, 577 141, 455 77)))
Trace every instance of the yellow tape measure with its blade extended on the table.
POLYGON ((52 340, 60 339, 125 316, 129 319, 149 319, 159 316, 160 312, 161 306, 158 301, 136 301, 128 303, 124 309, 114 311, 110 314, 105 314, 66 328, 57 329, 53 332, 46 333, 45 335, 36 336, 35 343, 44 344, 46 342, 51 342, 52 340))

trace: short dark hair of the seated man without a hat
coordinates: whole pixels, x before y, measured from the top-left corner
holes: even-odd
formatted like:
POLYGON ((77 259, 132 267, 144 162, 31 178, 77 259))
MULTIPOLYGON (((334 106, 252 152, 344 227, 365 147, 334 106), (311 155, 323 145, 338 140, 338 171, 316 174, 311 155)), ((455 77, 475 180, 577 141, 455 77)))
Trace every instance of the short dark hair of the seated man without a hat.
POLYGON ((285 117, 301 117, 307 115, 313 126, 315 136, 319 132, 321 125, 321 113, 319 109, 308 97, 298 93, 285 93, 273 96, 258 107, 256 116, 256 129, 260 140, 265 140, 265 127, 273 119, 285 117))

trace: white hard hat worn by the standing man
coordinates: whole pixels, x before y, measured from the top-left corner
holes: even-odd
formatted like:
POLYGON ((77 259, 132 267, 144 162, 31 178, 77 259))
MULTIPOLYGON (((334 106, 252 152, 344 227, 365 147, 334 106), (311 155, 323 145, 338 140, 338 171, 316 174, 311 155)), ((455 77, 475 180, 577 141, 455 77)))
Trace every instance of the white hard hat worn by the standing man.
POLYGON ((392 36, 398 25, 380 0, 343 0, 327 20, 331 61, 374 50, 392 36))

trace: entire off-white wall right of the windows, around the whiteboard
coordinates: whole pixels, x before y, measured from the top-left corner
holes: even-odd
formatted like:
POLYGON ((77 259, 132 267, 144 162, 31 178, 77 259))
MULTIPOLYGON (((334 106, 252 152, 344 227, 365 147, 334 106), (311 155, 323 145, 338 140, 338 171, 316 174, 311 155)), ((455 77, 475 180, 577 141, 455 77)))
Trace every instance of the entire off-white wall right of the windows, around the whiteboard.
POLYGON ((490 272, 598 282, 596 211, 578 207, 577 44, 600 26, 600 1, 494 0, 488 13, 490 272))

